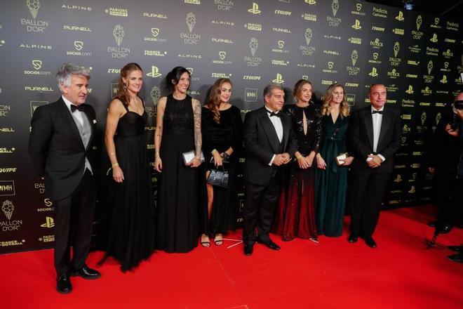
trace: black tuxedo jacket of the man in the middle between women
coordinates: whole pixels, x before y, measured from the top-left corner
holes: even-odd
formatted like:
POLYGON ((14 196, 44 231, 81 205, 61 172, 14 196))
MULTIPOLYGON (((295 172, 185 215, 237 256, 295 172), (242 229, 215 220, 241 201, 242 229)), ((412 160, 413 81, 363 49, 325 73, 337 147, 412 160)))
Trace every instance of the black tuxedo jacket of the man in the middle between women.
POLYGON ((283 140, 280 143, 274 125, 265 107, 248 112, 243 124, 243 141, 246 149, 244 178, 255 185, 267 185, 278 169, 269 162, 274 155, 288 152, 293 157, 297 140, 291 127, 290 117, 281 113, 283 140), (283 151, 281 151, 281 149, 283 151))

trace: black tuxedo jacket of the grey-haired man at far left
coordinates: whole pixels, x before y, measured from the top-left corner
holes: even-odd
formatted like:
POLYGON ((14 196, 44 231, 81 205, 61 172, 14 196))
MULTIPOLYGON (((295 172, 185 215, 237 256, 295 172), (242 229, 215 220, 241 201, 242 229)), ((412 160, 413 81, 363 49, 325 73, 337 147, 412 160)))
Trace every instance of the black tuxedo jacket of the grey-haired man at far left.
POLYGON ((37 107, 32 117, 29 155, 39 176, 45 177, 46 194, 53 200, 69 197, 76 190, 83 176, 86 157, 95 173, 95 110, 84 105, 92 127, 86 148, 62 98, 37 107))

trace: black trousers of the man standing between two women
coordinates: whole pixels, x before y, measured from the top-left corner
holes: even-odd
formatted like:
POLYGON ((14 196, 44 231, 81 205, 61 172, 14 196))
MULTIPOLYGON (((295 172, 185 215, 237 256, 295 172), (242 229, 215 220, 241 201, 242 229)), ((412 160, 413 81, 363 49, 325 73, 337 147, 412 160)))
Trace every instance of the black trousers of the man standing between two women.
POLYGON ((279 198, 280 178, 279 176, 272 177, 267 185, 255 185, 246 182, 245 192, 243 242, 253 244, 257 237, 262 242, 267 242, 270 239, 270 226, 279 198))

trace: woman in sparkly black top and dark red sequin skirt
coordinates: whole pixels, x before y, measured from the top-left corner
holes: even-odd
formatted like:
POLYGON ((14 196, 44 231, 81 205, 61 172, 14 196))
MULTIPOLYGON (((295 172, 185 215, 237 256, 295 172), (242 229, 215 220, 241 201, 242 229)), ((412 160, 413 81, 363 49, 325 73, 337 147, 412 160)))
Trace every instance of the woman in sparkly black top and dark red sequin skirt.
POLYGON ((296 103, 285 105, 297 137, 295 161, 289 166, 288 186, 280 195, 274 228, 283 240, 295 237, 318 242, 314 206, 314 157, 321 141, 320 108, 311 102, 312 85, 301 79, 294 86, 296 103))

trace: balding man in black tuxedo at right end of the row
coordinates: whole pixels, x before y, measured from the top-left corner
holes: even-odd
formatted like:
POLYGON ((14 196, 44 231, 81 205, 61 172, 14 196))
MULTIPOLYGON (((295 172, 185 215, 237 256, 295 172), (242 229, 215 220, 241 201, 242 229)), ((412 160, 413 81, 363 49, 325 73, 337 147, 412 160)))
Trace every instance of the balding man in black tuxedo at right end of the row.
POLYGON ((380 218, 382 200, 394 169, 394 154, 401 145, 401 112, 386 104, 387 89, 370 87, 371 105, 352 113, 351 145, 355 157, 351 166, 351 235, 349 242, 363 237, 376 247, 372 235, 380 218))

